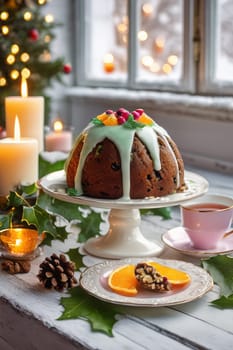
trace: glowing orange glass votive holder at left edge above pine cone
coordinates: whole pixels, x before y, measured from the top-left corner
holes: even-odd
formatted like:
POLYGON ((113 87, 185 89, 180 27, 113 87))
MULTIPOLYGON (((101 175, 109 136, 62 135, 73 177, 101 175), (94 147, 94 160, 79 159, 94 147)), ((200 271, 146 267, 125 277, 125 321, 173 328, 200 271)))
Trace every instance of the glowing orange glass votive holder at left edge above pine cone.
POLYGON ((44 234, 30 228, 12 227, 0 231, 0 242, 8 253, 26 255, 34 252, 43 241, 44 234))

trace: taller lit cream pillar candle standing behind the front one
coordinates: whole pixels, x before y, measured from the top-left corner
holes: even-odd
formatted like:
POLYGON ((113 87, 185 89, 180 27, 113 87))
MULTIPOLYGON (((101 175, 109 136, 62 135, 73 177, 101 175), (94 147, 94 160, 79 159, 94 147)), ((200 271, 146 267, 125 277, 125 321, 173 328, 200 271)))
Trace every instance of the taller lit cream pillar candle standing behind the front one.
POLYGON ((10 96, 5 99, 7 137, 14 136, 14 121, 17 115, 21 136, 37 139, 38 152, 41 152, 44 149, 44 98, 27 97, 27 88, 26 92, 23 92, 23 84, 24 81, 22 81, 22 97, 10 96))

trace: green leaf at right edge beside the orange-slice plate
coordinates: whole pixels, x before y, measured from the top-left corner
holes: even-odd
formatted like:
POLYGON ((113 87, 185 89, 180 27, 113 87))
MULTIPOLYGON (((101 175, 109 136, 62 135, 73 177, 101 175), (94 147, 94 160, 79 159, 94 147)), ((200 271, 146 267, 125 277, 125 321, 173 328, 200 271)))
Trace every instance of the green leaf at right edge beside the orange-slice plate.
POLYGON ((212 305, 223 309, 233 308, 233 258, 216 255, 202 260, 202 266, 220 287, 220 298, 212 301, 212 305))

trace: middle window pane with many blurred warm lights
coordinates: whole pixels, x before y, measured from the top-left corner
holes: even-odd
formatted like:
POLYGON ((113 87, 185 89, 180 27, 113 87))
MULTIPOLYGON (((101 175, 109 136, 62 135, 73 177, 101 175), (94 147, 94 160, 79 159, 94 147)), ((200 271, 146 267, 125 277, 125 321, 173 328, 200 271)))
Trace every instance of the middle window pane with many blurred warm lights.
POLYGON ((182 0, 140 0, 139 80, 181 79, 182 23, 182 0))

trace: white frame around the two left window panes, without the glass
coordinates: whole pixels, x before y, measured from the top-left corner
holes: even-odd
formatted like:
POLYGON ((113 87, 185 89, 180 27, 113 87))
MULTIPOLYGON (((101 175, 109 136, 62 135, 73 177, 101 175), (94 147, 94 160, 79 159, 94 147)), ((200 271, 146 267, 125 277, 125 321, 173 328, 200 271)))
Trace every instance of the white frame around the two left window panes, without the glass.
POLYGON ((85 56, 87 55, 88 42, 88 28, 86 26, 86 11, 88 8, 88 0, 79 0, 74 3, 76 13, 76 49, 77 59, 76 65, 76 79, 75 83, 83 87, 116 87, 128 88, 134 90, 153 90, 153 91, 173 91, 173 92, 195 92, 195 67, 193 60, 193 12, 195 0, 183 0, 183 71, 179 82, 143 82, 138 81, 136 76, 137 58, 138 58, 138 40, 136 33, 139 28, 139 1, 128 0, 128 15, 129 15, 129 45, 128 45, 128 77, 126 82, 116 79, 88 79, 85 67, 85 56), (133 20, 132 20, 133 19, 133 20), (132 54, 134 53, 134 54, 132 54), (136 53, 136 54, 135 54, 136 53))

